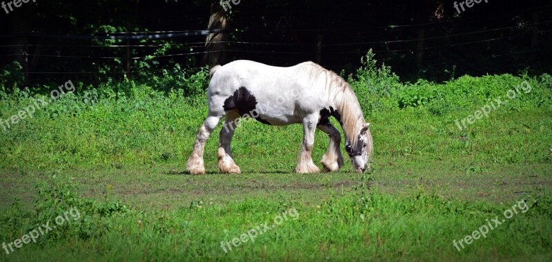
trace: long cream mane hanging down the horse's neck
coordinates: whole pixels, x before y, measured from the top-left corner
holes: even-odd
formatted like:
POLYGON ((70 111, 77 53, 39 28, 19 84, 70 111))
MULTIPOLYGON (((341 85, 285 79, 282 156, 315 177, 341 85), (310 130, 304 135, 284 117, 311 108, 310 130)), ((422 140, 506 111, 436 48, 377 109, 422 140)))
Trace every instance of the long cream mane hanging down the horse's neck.
POLYGON ((351 90, 349 84, 342 77, 339 77, 338 74, 335 74, 335 72, 326 70, 313 62, 297 65, 297 73, 306 75, 308 81, 311 83, 315 83, 319 77, 325 77, 328 101, 335 103, 337 112, 341 114, 342 128, 347 138, 351 139, 353 147, 355 147, 358 142, 358 134, 360 134, 360 130, 362 129, 359 121, 364 123, 364 116, 362 115, 362 108, 360 108, 357 96, 351 90))

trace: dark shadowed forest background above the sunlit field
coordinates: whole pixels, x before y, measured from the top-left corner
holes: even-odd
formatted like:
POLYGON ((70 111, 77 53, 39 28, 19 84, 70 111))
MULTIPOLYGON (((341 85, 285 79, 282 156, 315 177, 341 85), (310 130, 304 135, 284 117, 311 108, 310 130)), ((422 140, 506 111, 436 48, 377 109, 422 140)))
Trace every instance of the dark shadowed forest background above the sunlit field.
POLYGON ((28 84, 94 83, 235 59, 310 60, 348 74, 370 49, 406 81, 551 68, 552 1, 483 0, 461 14, 455 1, 440 0, 235 2, 226 11, 199 0, 37 0, 0 9, 3 74, 28 84))

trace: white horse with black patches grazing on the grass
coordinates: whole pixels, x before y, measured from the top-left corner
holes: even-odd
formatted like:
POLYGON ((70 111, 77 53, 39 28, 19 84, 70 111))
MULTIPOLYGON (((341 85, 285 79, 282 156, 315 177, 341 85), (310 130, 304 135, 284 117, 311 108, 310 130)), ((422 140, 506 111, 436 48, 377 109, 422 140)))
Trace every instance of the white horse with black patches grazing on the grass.
POLYGON ((193 152, 186 168, 191 174, 204 174, 204 147, 219 120, 226 116, 220 131, 218 165, 222 173, 239 173, 232 159, 230 143, 240 118, 253 118, 269 125, 303 124, 303 144, 297 173, 315 173, 311 153, 318 128, 330 137, 328 152, 322 157, 326 171, 337 171, 343 165, 339 150, 341 134, 329 121, 335 117, 345 132, 345 149, 353 168, 363 172, 370 168, 373 151, 369 123, 364 121, 357 97, 348 83, 332 71, 313 62, 289 68, 267 66, 254 61, 234 61, 210 70, 207 90, 209 112, 197 130, 193 152), (370 158, 370 159, 369 159, 370 158))

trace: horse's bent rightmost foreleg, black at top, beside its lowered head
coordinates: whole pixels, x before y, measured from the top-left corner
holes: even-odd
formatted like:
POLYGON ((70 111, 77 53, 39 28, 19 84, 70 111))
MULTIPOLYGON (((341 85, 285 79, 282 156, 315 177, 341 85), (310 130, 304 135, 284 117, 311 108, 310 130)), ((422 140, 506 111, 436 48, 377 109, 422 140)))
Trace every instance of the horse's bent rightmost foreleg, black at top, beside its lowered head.
POLYGON ((326 123, 326 125, 317 125, 317 128, 328 134, 330 137, 328 152, 324 154, 324 157, 322 157, 322 161, 320 161, 320 163, 324 165, 324 170, 328 172, 337 171, 343 166, 343 157, 341 149, 339 148, 341 144, 341 134, 331 123, 326 123))

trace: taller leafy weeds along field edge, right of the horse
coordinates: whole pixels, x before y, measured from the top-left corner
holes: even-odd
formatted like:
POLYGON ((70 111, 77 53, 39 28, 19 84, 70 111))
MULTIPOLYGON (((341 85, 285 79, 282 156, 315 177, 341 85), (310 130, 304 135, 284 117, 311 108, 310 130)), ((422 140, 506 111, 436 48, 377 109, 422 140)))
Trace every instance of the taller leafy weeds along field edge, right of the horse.
POLYGON ((355 90, 365 110, 396 110, 404 108, 427 108, 435 115, 457 110, 476 110, 495 99, 507 100, 509 90, 517 89, 515 99, 511 99, 501 110, 543 107, 551 105, 549 74, 540 77, 514 77, 511 74, 486 75, 483 77, 463 76, 446 83, 433 83, 418 79, 415 83, 401 83, 391 68, 377 65, 373 52, 362 58, 362 67, 349 83, 355 90), (531 90, 524 92, 520 85, 529 81, 531 90))

